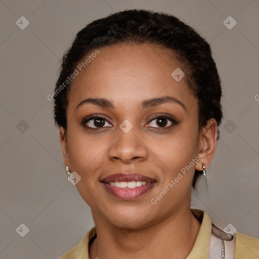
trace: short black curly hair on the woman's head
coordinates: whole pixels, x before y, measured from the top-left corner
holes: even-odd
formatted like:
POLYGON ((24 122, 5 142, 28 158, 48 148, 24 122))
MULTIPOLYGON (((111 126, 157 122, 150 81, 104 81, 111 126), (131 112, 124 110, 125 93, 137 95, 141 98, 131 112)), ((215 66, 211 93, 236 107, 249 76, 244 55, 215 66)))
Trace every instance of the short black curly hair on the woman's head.
MULTIPOLYGON (((71 82, 62 91, 60 87, 81 60, 97 48, 127 42, 155 44, 171 50, 185 68, 188 88, 198 101, 199 130, 207 125, 210 118, 214 118, 218 126, 221 124, 221 81, 207 41, 175 16, 146 10, 126 10, 95 20, 76 34, 63 56, 53 95, 56 125, 66 131, 71 82)), ((195 170, 194 189, 200 175, 200 171, 195 170)))

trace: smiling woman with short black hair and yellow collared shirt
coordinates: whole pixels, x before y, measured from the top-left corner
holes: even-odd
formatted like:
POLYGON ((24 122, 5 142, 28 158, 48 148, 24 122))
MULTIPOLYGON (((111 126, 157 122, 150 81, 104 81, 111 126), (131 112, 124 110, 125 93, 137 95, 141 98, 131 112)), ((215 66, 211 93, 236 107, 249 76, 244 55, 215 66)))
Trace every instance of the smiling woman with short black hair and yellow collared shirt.
POLYGON ((67 178, 95 227, 62 259, 259 257, 258 239, 190 208, 215 153, 221 95, 209 45, 174 16, 123 11, 77 33, 54 113, 67 178))

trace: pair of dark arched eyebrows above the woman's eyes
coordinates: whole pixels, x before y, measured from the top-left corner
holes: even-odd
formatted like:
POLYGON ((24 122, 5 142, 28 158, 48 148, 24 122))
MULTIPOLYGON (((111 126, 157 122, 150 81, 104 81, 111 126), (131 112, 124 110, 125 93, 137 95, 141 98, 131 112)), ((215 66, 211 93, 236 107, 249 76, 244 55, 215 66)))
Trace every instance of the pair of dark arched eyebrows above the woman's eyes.
MULTIPOLYGON (((79 108, 80 106, 82 106, 83 104, 94 104, 103 108, 111 108, 114 109, 114 105, 112 101, 109 101, 108 99, 105 98, 87 98, 82 100, 77 106, 76 109, 79 108)), ((149 108, 149 107, 153 107, 153 106, 157 106, 163 103, 177 103, 179 105, 181 105, 185 111, 187 111, 185 105, 179 101, 178 99, 171 97, 171 96, 163 96, 163 97, 158 97, 158 98, 152 98, 152 99, 147 99, 142 101, 141 103, 141 107, 143 109, 149 108)))

